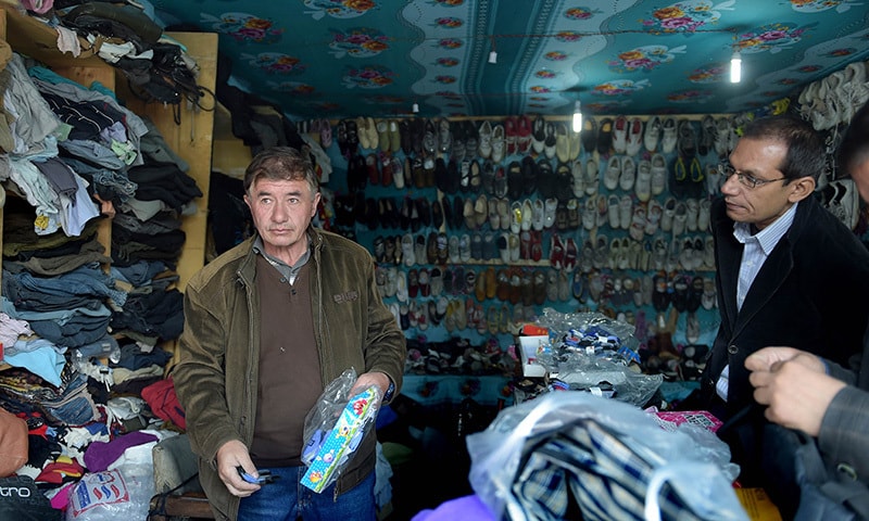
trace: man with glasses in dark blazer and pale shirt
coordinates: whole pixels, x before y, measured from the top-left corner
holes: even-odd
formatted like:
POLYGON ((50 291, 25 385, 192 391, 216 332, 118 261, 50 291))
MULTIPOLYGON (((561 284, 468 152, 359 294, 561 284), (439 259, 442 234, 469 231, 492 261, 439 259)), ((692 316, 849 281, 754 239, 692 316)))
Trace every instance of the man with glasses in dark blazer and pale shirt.
POLYGON ((745 358, 789 345, 846 364, 869 316, 869 251, 815 195, 826 150, 808 123, 755 119, 728 160, 710 219, 721 323, 700 397, 726 421, 721 437, 751 485, 754 435, 766 420, 745 358))

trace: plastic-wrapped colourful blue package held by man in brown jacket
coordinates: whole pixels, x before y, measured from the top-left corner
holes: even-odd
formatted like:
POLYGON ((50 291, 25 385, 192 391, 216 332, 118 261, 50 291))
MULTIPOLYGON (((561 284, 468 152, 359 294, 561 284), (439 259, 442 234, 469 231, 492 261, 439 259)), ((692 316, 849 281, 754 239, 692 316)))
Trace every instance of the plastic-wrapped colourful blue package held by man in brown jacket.
POLYGON ((380 391, 371 385, 350 396, 355 381, 356 371, 345 370, 326 385, 305 417, 302 462, 307 471, 302 484, 314 492, 323 492, 338 479, 377 418, 380 391))

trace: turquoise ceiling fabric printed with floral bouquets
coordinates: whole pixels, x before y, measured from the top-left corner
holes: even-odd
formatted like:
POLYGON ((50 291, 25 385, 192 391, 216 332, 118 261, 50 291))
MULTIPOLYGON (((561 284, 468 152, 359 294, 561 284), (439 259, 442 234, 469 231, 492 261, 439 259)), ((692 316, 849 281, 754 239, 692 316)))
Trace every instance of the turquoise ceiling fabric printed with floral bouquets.
POLYGON ((760 111, 869 59, 853 0, 155 0, 290 117, 760 111), (489 63, 491 51, 496 63, 489 63), (743 80, 729 81, 739 51, 743 80))

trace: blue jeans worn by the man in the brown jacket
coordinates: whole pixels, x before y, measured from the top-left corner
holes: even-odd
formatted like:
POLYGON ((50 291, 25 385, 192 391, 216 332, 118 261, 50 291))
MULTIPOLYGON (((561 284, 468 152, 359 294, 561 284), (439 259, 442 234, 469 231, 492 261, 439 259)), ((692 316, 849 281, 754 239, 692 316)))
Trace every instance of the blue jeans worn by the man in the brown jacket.
MULTIPOLYGON (((262 469, 261 469, 262 470, 262 469)), ((307 467, 273 467, 272 475, 280 479, 263 485, 251 496, 241 498, 239 521, 376 521, 374 499, 375 473, 358 485, 335 497, 335 483, 322 493, 301 484, 307 467)))

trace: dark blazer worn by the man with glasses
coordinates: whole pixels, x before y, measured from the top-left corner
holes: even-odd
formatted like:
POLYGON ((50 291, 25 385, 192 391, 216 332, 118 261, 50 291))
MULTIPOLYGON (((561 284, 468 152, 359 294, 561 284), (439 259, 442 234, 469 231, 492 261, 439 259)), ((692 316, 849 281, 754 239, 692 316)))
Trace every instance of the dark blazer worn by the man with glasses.
MULTIPOLYGON (((869 317, 869 251, 814 196, 799 202, 793 225, 757 274, 742 309, 736 282, 743 245, 722 199, 711 231, 721 325, 701 379, 701 396, 717 409, 715 382, 730 366, 723 420, 754 404, 745 358, 767 345, 789 345, 840 365, 860 351, 869 317)), ((719 412, 720 414, 720 412, 719 412)))

